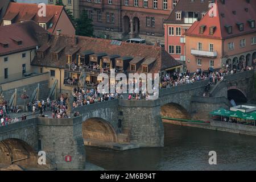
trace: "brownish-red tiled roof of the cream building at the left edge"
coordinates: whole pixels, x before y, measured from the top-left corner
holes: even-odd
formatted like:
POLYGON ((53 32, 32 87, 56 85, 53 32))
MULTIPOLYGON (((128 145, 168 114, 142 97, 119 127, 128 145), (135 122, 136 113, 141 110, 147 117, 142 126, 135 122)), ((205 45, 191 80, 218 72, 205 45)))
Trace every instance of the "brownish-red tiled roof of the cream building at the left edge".
POLYGON ((35 48, 41 42, 38 34, 47 33, 44 28, 32 21, 1 26, 0 32, 0 56, 35 48), (16 43, 19 41, 22 41, 22 45, 16 43), (5 48, 3 44, 9 46, 5 48))

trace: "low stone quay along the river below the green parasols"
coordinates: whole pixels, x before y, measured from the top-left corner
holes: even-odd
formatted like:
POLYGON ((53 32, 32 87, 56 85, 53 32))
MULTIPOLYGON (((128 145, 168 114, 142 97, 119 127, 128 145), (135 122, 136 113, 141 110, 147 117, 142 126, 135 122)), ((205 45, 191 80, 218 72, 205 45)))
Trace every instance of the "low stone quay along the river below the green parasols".
POLYGON ((215 130, 215 131, 225 131, 229 133, 243 134, 256 136, 256 127, 241 125, 237 123, 227 123, 221 121, 210 121, 209 123, 203 122, 184 122, 170 119, 162 119, 164 123, 170 123, 172 125, 179 126, 189 126, 189 127, 198 127, 202 129, 215 130))

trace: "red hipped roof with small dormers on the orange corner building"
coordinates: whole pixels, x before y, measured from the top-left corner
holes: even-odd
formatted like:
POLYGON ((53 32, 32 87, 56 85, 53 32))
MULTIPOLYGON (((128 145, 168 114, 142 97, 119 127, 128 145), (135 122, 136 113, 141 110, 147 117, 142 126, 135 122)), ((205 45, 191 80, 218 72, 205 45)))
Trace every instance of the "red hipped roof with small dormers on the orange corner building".
MULTIPOLYGON (((246 0, 226 0, 225 4, 221 1, 215 1, 217 7, 217 16, 210 17, 209 14, 192 26, 185 32, 185 35, 200 36, 205 38, 226 39, 232 36, 238 36, 249 32, 255 32, 256 28, 251 28, 248 20, 256 20, 256 1, 246 0), (247 12, 245 11, 247 9, 247 12), (233 11, 236 11, 234 14, 233 11), (237 23, 243 23, 244 30, 238 29, 237 23), (205 26, 203 34, 200 34, 200 27, 205 26), (214 34, 209 35, 210 27, 214 26, 214 34), (228 34, 225 26, 232 26, 232 34, 228 34)), ((210 10, 209 10, 210 11, 210 10)))

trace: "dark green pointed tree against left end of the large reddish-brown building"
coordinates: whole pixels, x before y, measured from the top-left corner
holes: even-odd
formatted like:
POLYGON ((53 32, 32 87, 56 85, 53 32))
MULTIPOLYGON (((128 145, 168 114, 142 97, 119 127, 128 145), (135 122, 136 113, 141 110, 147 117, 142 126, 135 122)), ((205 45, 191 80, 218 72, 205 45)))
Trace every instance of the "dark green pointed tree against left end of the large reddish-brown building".
POLYGON ((75 20, 76 35, 93 36, 92 19, 88 18, 85 10, 82 10, 80 18, 75 20))

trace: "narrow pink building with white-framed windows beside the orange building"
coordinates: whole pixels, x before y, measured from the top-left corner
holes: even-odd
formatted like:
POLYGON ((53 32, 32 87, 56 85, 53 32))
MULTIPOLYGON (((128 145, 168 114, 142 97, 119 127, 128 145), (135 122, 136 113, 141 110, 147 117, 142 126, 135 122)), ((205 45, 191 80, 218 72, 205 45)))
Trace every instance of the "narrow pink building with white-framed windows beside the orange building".
POLYGON ((185 31, 200 20, 209 9, 206 0, 179 0, 174 10, 164 22, 165 49, 176 60, 184 64, 185 71, 185 31))

